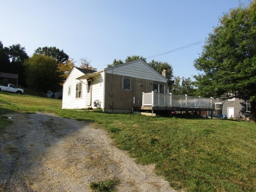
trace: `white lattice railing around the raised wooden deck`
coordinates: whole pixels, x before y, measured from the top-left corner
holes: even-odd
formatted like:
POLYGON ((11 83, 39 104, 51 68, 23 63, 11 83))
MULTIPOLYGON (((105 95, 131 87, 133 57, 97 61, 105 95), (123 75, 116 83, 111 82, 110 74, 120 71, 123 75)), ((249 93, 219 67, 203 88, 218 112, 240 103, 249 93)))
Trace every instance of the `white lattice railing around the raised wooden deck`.
POLYGON ((142 106, 152 107, 182 107, 212 109, 212 97, 202 98, 188 95, 174 95, 155 93, 142 93, 142 106))

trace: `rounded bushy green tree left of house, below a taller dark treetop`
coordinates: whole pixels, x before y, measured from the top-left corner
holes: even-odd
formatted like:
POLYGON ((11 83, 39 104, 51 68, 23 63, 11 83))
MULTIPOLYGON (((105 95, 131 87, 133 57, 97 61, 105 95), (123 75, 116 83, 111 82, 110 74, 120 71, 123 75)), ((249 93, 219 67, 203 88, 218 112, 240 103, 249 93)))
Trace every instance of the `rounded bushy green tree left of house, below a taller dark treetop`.
POLYGON ((31 90, 54 92, 61 90, 60 72, 57 72, 58 63, 56 59, 34 54, 24 62, 26 83, 31 90))

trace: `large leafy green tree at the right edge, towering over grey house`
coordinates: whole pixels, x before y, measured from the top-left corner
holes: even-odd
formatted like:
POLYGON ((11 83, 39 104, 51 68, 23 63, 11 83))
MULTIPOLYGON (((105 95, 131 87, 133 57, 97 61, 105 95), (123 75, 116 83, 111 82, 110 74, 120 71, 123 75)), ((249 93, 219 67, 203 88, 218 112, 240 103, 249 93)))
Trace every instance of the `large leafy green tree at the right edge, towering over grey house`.
POLYGON ((194 67, 196 86, 204 96, 251 101, 256 121, 256 1, 225 13, 209 34, 194 67))

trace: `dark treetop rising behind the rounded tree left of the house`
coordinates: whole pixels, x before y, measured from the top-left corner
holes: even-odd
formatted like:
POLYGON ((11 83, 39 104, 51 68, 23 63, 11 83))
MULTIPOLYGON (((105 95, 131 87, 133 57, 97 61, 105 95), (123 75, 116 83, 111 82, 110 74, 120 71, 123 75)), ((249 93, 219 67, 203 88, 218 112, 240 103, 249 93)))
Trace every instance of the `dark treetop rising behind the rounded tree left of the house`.
POLYGON ((68 59, 69 56, 64 53, 63 50, 59 50, 56 47, 39 47, 35 50, 35 54, 37 55, 45 55, 45 56, 52 56, 55 58, 58 62, 65 63, 68 59))

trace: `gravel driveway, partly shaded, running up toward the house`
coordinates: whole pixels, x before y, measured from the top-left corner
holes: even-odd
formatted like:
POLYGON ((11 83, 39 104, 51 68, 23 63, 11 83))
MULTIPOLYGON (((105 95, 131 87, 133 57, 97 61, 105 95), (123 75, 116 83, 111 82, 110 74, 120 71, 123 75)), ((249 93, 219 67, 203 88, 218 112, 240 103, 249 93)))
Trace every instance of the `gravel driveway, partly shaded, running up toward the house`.
POLYGON ((91 182, 114 178, 118 192, 174 192, 93 124, 41 112, 5 116, 13 124, 0 137, 0 192, 91 192, 91 182))

